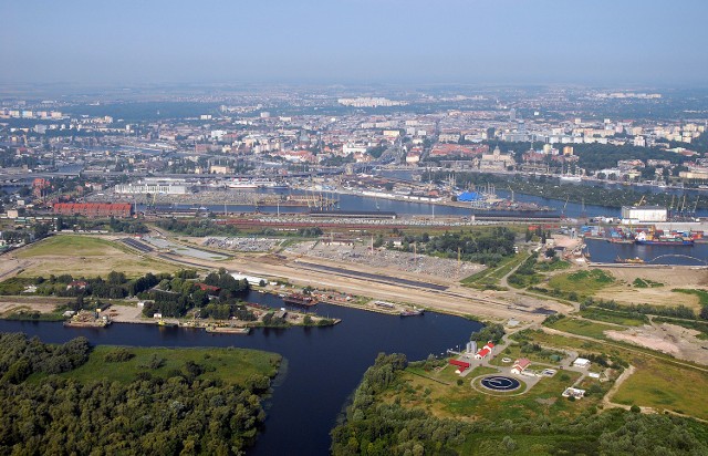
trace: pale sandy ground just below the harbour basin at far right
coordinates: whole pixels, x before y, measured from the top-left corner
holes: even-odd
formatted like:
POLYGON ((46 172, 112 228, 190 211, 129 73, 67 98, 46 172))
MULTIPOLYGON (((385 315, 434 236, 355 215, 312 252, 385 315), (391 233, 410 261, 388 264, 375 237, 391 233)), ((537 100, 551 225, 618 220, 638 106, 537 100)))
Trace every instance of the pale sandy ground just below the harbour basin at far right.
POLYGON ((600 268, 612 273, 620 283, 595 293, 600 299, 614 299, 627 304, 684 304, 694 310, 700 310, 698 297, 671 292, 674 288, 706 289, 708 287, 708 270, 697 268, 600 268), (648 279, 664 283, 664 287, 636 288, 627 287, 635 279, 648 279))

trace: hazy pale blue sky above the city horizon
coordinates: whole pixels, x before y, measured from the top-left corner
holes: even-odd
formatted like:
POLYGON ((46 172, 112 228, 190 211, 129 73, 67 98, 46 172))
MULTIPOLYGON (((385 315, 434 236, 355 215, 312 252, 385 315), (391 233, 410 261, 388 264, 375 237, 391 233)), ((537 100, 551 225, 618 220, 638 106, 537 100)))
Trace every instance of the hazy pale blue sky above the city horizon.
POLYGON ((705 0, 0 0, 0 81, 706 85, 705 0))

